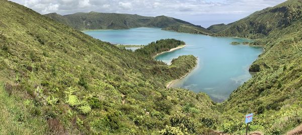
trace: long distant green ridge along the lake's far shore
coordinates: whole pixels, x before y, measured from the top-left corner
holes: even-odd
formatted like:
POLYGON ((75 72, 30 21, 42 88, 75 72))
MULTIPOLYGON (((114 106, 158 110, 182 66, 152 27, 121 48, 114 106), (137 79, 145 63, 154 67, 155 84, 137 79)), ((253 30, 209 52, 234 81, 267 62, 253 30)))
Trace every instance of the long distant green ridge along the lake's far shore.
POLYGON ((144 17, 130 14, 97 12, 75 13, 64 16, 58 15, 56 13, 50 13, 44 16, 79 30, 156 27, 177 32, 198 33, 206 35, 212 34, 211 31, 201 26, 166 16, 144 17))

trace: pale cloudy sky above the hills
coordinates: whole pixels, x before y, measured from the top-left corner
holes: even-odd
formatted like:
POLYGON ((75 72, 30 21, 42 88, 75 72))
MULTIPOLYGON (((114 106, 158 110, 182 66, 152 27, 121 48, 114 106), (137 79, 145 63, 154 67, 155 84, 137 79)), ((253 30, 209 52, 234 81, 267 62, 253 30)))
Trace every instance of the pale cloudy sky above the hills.
POLYGON ((77 12, 170 16, 208 27, 231 23, 286 0, 12 0, 40 14, 77 12))

